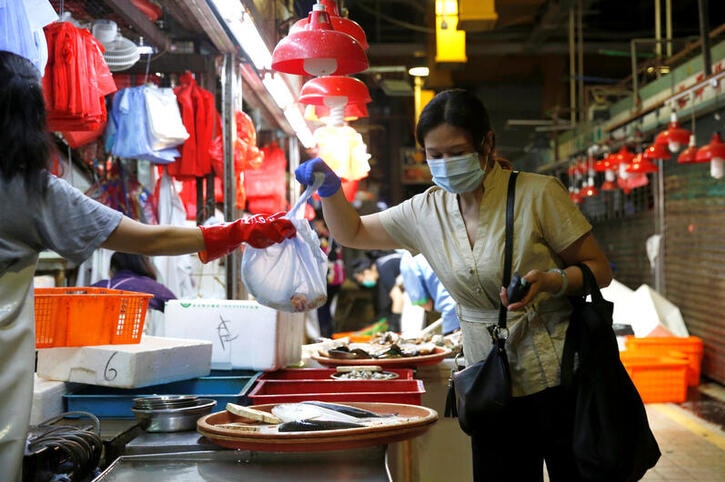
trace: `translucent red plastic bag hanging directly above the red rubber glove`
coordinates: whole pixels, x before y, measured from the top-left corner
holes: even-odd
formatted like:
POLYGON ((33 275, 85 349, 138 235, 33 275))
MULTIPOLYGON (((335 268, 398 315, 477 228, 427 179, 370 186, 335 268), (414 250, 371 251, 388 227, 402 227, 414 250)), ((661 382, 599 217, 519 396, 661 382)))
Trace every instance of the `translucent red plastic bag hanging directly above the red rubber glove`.
POLYGON ((244 188, 247 194, 247 211, 252 214, 274 214, 286 211, 287 158, 276 141, 262 147, 262 164, 244 171, 244 188))

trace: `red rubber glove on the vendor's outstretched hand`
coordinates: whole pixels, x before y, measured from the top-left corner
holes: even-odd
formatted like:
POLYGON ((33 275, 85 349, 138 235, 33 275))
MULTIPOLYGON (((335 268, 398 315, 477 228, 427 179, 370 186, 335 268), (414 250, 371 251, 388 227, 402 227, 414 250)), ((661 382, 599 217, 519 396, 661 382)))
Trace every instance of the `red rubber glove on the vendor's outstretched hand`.
POLYGON ((257 214, 231 223, 199 226, 206 244, 206 249, 199 252, 199 259, 208 263, 233 252, 242 243, 263 249, 296 236, 297 229, 284 215, 283 212, 271 216, 257 214))

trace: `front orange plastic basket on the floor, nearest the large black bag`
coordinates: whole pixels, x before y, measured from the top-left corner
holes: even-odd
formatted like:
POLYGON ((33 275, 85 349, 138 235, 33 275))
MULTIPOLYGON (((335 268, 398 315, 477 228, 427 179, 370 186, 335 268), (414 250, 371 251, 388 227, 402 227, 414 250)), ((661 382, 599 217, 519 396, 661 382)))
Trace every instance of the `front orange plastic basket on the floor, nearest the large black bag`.
POLYGON ((644 403, 682 403, 687 399, 686 359, 620 352, 644 403))

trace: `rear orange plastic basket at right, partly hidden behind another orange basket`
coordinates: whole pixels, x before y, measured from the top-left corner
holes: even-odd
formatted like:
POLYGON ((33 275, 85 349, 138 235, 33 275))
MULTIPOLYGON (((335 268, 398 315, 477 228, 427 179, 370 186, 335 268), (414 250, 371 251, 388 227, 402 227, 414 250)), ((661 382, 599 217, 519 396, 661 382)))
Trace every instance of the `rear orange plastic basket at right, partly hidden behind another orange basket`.
POLYGON ((702 366, 702 339, 696 336, 651 336, 636 338, 628 336, 624 339, 627 351, 651 356, 686 357, 687 384, 696 387, 700 383, 702 366))

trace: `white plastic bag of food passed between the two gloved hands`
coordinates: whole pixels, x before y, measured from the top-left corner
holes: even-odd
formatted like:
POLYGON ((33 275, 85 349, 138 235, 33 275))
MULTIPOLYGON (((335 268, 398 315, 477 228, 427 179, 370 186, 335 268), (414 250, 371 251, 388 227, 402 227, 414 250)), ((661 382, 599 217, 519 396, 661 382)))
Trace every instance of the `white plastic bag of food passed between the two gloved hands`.
POLYGON ((304 219, 304 206, 321 182, 308 186, 286 215, 297 228, 297 236, 264 249, 244 248, 242 281, 264 306, 300 312, 327 301, 327 256, 317 233, 304 219))

